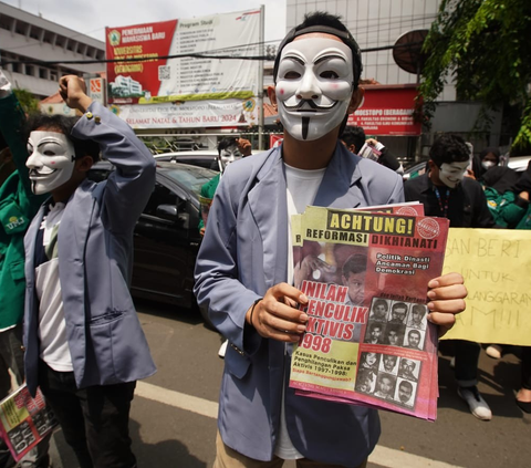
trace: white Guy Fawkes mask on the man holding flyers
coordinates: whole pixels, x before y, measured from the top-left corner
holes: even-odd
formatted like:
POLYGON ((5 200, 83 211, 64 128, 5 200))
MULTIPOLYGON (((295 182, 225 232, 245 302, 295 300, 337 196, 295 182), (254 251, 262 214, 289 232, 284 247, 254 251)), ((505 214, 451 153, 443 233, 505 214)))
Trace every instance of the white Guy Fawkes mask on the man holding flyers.
POLYGON ((290 42, 279 62, 275 94, 284 128, 314 141, 341 124, 352 96, 352 51, 333 39, 290 42))

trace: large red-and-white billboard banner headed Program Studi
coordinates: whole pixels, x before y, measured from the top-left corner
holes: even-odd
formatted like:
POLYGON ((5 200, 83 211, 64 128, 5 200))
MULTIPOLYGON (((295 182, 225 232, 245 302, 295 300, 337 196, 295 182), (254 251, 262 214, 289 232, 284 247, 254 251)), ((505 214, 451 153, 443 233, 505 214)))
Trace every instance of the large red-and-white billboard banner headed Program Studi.
POLYGON ((106 28, 108 103, 248 98, 258 93, 257 60, 194 54, 259 53, 260 10, 106 28), (176 59, 160 56, 183 55, 176 59), (127 61, 127 59, 145 59, 127 61))

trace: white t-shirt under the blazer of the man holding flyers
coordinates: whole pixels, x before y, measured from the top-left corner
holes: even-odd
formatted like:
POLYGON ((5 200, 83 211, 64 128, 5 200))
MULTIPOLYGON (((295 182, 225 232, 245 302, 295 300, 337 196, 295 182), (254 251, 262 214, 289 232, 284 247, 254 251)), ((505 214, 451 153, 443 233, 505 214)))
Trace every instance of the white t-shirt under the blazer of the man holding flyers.
MULTIPOLYGON (((293 284, 293 245, 291 241, 291 216, 301 215, 308 205, 312 205, 317 195, 319 186, 323 180, 326 168, 315 170, 298 169, 284 164, 285 186, 288 195, 288 282, 293 284)), ((292 353, 293 345, 285 345, 285 353, 292 353)), ((284 385, 282 384, 282 388, 284 385)), ((304 458, 293 446, 285 424, 284 392, 282 389, 282 407, 280 415, 280 431, 274 448, 274 455, 284 460, 304 458)))

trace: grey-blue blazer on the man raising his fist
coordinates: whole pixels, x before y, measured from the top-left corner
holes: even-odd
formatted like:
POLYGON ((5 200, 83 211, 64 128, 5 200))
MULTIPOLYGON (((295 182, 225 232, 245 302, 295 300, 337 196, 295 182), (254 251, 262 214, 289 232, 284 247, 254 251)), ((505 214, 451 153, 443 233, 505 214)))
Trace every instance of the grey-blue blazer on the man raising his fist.
MULTIPOLYGON (((77 187, 58 233, 66 334, 80 388, 136 381, 156 371, 128 290, 133 229, 155 185, 155 160, 133 129, 111 111, 98 103, 92 103, 90 111, 94 117, 81 117, 72 135, 98 142, 116 170, 107 180, 84 180, 77 187)), ((39 384, 34 256, 44 207, 24 239, 25 376, 32 394, 39 384)))

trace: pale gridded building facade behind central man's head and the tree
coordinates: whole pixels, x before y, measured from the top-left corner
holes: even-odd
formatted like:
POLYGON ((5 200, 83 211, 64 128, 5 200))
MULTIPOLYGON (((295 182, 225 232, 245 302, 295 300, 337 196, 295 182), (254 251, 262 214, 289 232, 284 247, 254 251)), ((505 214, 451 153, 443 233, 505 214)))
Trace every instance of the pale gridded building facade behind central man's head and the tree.
MULTIPOLYGON (((402 70, 393 58, 393 50, 367 51, 392 46, 405 33, 429 30, 437 18, 440 0, 287 0, 287 30, 299 24, 305 13, 326 11, 339 14, 356 39, 362 50, 362 79, 374 79, 382 85, 417 83, 416 73, 402 70), (363 52, 365 51, 365 52, 363 52)), ((403 160, 426 157, 434 137, 441 132, 461 134, 472 142, 475 150, 496 146, 500 139, 501 115, 492 114, 491 132, 473 134, 480 103, 456 102, 451 81, 440 94, 439 105, 430 132, 420 139, 412 137, 383 137, 382 141, 403 160)))

